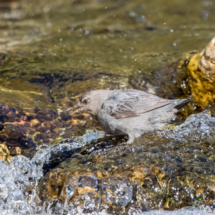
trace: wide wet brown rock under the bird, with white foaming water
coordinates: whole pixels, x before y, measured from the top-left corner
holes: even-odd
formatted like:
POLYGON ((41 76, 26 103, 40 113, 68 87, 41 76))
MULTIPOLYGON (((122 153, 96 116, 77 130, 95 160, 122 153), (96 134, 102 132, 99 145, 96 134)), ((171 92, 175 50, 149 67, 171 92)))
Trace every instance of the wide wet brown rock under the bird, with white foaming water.
POLYGON ((6 202, 9 211, 39 214, 133 214, 194 204, 211 208, 213 125, 214 117, 202 112, 174 129, 145 134, 131 145, 119 140, 110 144, 117 138, 106 140, 99 131, 42 145, 31 160, 19 155, 9 165, 0 163, 0 207, 5 211, 6 202), (48 165, 54 169, 44 176, 48 165))

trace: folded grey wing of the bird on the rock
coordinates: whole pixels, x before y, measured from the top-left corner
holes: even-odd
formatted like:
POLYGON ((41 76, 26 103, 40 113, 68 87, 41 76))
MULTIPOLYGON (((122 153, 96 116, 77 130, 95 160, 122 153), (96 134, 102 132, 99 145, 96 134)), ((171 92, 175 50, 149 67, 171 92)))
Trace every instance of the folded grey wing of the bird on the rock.
POLYGON ((104 109, 116 119, 136 117, 142 113, 173 103, 139 90, 117 90, 103 103, 104 109))

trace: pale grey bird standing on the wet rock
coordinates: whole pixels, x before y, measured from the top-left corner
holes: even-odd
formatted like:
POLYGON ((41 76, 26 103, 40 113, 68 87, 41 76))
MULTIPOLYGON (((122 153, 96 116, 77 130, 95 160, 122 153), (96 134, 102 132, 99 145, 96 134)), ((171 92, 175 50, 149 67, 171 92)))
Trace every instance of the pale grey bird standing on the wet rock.
POLYGON ((74 113, 97 116, 108 134, 128 135, 127 143, 146 132, 161 130, 191 99, 168 100, 140 90, 93 90, 83 94, 74 113))

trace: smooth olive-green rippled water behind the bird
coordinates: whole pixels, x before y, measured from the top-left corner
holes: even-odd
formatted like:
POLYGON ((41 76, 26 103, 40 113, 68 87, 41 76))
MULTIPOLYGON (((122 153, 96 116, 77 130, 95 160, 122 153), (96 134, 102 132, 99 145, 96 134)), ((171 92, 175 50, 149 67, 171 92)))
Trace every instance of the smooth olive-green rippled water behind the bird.
POLYGON ((1 101, 17 107, 62 109, 88 90, 141 88, 138 78, 155 79, 214 35, 214 1, 3 1, 0 9, 1 101))

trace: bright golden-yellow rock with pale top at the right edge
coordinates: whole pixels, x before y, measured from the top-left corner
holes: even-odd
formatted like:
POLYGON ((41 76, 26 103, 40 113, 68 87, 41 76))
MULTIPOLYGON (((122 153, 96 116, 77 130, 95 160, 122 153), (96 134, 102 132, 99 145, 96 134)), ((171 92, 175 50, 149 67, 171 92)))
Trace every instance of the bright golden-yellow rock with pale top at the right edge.
POLYGON ((215 38, 201 53, 194 54, 187 65, 187 77, 182 88, 185 95, 191 95, 197 106, 204 108, 215 98, 214 48, 215 38))

